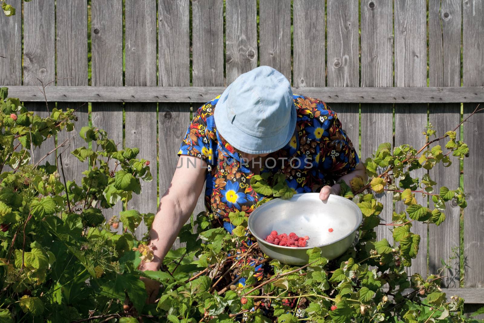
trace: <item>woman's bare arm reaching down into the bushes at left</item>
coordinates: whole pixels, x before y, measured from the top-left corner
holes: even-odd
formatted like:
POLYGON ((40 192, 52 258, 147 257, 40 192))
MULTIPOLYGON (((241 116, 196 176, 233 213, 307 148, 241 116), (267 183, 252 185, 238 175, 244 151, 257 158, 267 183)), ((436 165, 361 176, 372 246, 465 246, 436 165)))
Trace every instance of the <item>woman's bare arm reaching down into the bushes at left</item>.
MULTIPOLYGON (((140 270, 160 269, 166 253, 173 246, 181 227, 190 218, 202 192, 207 163, 197 157, 181 155, 178 165, 181 167, 175 170, 151 226, 149 246, 153 250, 154 258, 150 262, 142 261, 140 270)), ((148 278, 142 280, 145 282, 149 301, 153 302, 160 284, 148 278)))

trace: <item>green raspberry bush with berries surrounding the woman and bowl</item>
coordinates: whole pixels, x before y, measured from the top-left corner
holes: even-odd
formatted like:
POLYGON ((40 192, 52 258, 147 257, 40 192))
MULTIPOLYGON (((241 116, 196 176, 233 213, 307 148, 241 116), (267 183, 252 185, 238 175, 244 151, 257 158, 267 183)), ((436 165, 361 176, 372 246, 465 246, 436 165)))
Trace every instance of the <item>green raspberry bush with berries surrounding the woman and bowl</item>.
MULTIPOLYGON (((137 240, 134 232, 154 215, 130 209, 128 201, 140 194, 140 180, 151 181, 149 161, 88 126, 76 130, 86 144, 71 153, 89 166, 79 183, 64 177, 65 143, 56 143, 54 165, 31 157, 60 131, 74 130, 75 119, 73 109, 41 118, 0 91, 0 322, 472 322, 462 315, 461 298, 440 291, 444 269, 428 277, 405 272, 419 250, 412 224, 440 225, 448 201, 466 206, 459 188, 437 189, 428 174, 414 175, 468 154, 455 130, 434 138, 429 127, 419 149, 381 144, 365 161, 370 180, 342 185, 364 219, 359 242, 338 259, 313 248, 308 264, 292 267, 265 257, 257 243, 237 254, 247 239, 246 215, 229 215, 235 229, 228 234, 201 213, 183 227, 186 246, 171 250, 162 270, 141 272, 140 261, 153 255, 147 237, 137 240), (384 190, 406 205, 392 223, 378 217, 374 194, 384 190), (417 194, 434 207, 417 204, 417 194), (112 211, 116 203, 123 204, 120 214, 112 211), (392 228, 394 241, 377 240, 378 225, 392 228), (264 276, 254 277, 246 259, 263 265, 264 276), (155 304, 145 304, 140 276, 162 285, 155 304)), ((293 194, 281 176, 272 182, 253 178, 264 201, 293 194)))

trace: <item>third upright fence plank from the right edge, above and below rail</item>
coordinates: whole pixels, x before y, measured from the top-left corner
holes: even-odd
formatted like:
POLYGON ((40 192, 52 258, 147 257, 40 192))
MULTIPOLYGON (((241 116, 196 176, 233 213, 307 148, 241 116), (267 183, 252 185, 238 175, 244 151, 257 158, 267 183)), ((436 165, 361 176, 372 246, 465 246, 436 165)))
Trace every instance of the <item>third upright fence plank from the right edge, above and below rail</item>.
MULTIPOLYGON (((426 3, 425 0, 395 0, 395 86, 425 87, 427 85, 426 3)), ((426 104, 395 105, 395 145, 409 144, 419 149, 425 143, 421 135, 427 125, 426 104)), ((422 177, 423 169, 413 171, 422 177)), ((417 202, 427 206, 427 197, 417 194, 417 202)), ((395 204, 396 212, 405 205, 395 204)), ((413 232, 420 234, 420 249, 408 273, 427 274, 427 224, 415 223, 413 232)))

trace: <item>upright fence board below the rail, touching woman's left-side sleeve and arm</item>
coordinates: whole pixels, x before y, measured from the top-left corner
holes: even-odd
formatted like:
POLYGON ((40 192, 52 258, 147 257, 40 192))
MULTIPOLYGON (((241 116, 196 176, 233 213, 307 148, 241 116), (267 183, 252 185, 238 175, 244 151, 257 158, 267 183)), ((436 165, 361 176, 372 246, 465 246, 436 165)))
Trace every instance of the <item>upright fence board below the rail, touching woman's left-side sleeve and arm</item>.
MULTIPOLYGON (((160 198, 171 185, 171 180, 178 162, 178 151, 181 139, 184 138, 190 121, 190 109, 186 104, 159 105, 158 133, 159 133, 159 163, 160 163, 160 198)), ((173 249, 181 247, 177 238, 173 249)))

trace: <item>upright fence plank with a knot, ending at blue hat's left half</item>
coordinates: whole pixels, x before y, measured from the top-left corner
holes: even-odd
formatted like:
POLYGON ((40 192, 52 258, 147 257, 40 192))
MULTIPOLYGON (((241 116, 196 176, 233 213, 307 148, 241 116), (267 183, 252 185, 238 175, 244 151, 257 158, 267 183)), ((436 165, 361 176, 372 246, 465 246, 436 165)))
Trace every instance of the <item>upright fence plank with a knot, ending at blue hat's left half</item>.
POLYGON ((256 0, 226 1, 225 61, 227 85, 257 67, 256 0))

